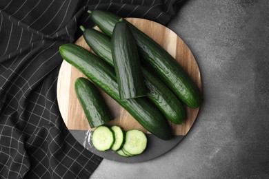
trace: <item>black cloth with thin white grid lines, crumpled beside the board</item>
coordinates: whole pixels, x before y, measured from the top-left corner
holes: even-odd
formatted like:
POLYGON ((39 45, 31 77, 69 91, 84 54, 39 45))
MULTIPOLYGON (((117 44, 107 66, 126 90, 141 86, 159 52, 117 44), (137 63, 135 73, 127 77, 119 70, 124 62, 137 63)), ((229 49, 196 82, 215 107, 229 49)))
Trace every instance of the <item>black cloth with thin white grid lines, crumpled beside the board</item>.
POLYGON ((89 178, 102 158, 73 138, 59 113, 59 45, 81 35, 78 25, 93 25, 87 10, 166 24, 181 1, 1 0, 0 178, 89 178))

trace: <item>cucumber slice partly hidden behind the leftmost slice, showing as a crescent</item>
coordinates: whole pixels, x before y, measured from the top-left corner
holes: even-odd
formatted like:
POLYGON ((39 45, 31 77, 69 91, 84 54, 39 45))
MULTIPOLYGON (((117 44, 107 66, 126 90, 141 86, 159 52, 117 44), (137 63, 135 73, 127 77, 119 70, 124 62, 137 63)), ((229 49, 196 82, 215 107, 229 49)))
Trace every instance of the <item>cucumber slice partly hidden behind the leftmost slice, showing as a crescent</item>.
POLYGON ((110 129, 114 131, 114 137, 115 137, 115 142, 111 149, 113 151, 118 151, 123 146, 125 140, 125 132, 121 127, 116 125, 112 126, 110 129))

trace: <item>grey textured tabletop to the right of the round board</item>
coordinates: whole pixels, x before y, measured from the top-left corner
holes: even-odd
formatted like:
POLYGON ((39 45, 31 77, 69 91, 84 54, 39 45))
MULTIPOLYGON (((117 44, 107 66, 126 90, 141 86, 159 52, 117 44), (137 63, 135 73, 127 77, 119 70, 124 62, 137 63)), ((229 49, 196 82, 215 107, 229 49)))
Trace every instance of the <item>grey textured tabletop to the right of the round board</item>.
POLYGON ((189 0, 168 26, 201 70, 195 125, 167 154, 103 160, 91 178, 269 178, 269 1, 189 0))

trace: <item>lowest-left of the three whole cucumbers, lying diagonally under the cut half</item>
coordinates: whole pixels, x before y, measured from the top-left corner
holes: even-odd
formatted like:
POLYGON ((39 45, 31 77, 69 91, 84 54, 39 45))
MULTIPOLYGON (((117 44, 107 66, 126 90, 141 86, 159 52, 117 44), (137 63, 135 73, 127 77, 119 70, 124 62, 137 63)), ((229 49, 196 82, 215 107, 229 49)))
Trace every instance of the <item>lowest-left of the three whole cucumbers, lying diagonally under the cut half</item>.
POLYGON ((146 130, 163 140, 172 138, 172 129, 163 114, 145 97, 121 100, 114 70, 88 50, 72 43, 61 45, 63 59, 85 74, 125 108, 146 130))

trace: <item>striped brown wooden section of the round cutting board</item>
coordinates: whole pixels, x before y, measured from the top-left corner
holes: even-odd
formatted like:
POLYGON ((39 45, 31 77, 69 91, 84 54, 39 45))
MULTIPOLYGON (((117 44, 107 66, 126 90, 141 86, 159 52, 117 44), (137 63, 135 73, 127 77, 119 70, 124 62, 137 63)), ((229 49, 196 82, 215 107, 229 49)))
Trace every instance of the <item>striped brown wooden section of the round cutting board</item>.
MULTIPOLYGON (((192 55, 192 52, 186 43, 184 43, 179 36, 175 34, 175 32, 172 32, 172 30, 159 23, 148 21, 146 19, 128 18, 126 20, 139 28, 139 30, 148 34, 148 36, 166 49, 183 67, 183 69, 188 72, 192 80, 195 81, 201 90, 201 75, 197 62, 195 61, 195 57, 192 55)), ((84 41, 83 36, 76 41, 76 44, 90 50, 86 44, 86 41, 84 41)), ((79 72, 79 70, 72 67, 72 65, 66 61, 63 61, 59 71, 57 84, 57 99, 59 109, 68 129, 92 130, 74 92, 74 81, 81 76, 86 77, 79 72)), ((101 94, 103 95, 103 98, 108 104, 110 112, 114 117, 114 120, 108 123, 109 126, 119 125, 125 130, 136 128, 147 132, 146 129, 137 123, 135 118, 132 118, 132 116, 130 116, 130 114, 128 114, 128 112, 126 112, 126 110, 123 109, 116 101, 110 98, 110 96, 105 94, 103 91, 101 91, 101 94)), ((183 125, 175 125, 170 123, 175 135, 185 136, 188 133, 190 127, 192 127, 195 119, 197 118, 199 108, 191 109, 186 107, 186 112, 186 123, 183 125)))

